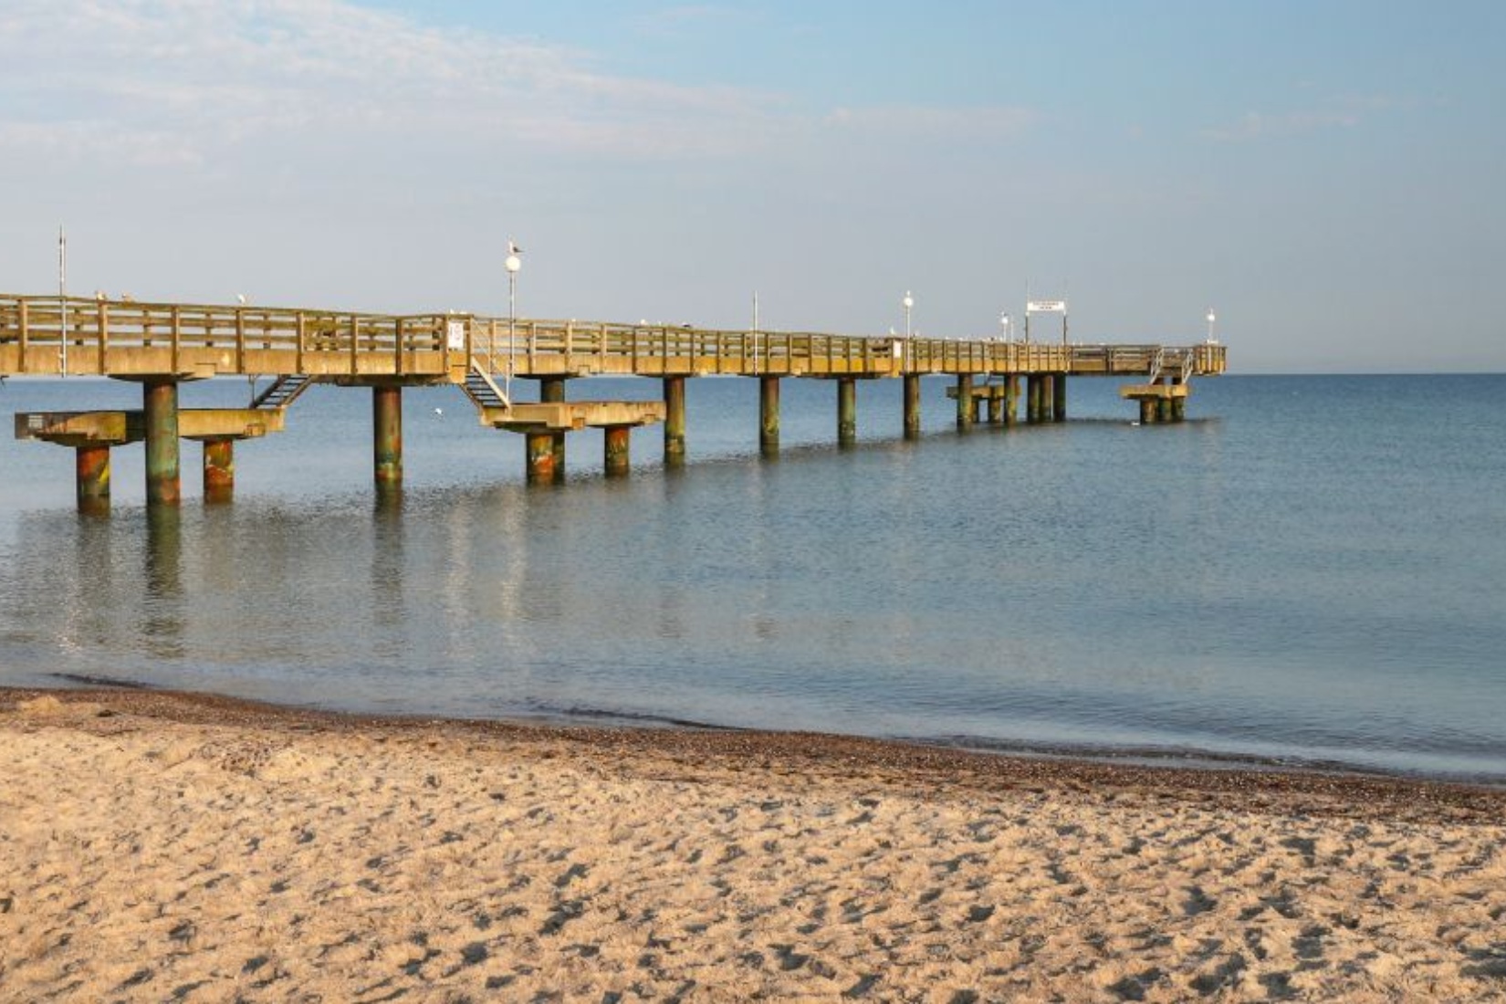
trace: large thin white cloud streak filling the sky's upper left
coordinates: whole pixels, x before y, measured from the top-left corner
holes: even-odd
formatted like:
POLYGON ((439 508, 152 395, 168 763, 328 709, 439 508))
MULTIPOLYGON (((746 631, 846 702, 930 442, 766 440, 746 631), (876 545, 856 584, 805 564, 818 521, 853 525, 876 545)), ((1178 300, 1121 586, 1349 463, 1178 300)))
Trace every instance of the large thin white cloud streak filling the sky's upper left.
POLYGON ((748 125, 771 104, 730 87, 598 74, 565 47, 340 0, 21 0, 0 30, 0 145, 134 163, 157 163, 155 143, 191 164, 258 138, 330 131, 721 155, 758 134, 748 125))

